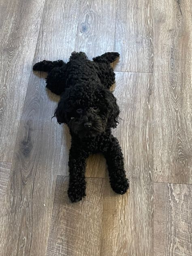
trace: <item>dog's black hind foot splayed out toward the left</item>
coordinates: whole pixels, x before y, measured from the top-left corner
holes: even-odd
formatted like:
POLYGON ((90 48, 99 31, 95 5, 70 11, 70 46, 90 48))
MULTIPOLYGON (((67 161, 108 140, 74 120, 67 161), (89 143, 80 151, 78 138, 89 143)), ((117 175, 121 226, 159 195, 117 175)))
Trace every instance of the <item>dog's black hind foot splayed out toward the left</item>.
POLYGON ((49 61, 49 60, 43 60, 41 62, 37 62, 33 66, 33 70, 38 70, 38 71, 45 71, 45 72, 50 72, 53 68, 60 68, 62 66, 66 65, 65 62, 62 60, 56 60, 56 61, 49 61))

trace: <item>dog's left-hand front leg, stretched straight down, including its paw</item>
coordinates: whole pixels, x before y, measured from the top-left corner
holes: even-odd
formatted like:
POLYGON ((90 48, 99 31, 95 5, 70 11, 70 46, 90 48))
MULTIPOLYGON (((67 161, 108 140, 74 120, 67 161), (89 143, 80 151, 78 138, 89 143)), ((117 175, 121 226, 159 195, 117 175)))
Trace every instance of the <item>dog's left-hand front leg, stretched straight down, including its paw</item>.
POLYGON ((80 201, 85 195, 85 157, 75 147, 69 153, 69 187, 68 197, 71 202, 80 201))

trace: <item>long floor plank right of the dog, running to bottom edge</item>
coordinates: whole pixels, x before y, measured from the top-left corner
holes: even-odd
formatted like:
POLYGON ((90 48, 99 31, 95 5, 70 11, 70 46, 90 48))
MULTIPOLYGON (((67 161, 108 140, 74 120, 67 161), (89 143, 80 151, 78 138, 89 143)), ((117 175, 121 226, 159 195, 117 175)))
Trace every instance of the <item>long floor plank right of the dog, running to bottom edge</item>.
POLYGON ((153 254, 152 75, 117 73, 115 96, 121 113, 114 131, 122 146, 130 191, 104 193, 102 256, 153 254))

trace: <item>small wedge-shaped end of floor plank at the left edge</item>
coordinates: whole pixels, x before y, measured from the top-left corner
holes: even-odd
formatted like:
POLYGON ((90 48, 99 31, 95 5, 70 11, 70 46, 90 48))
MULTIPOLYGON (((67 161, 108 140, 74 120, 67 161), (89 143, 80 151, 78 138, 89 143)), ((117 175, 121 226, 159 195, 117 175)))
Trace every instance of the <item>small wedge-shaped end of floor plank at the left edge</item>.
POLYGON ((11 163, 0 162, 0 208, 4 205, 4 197, 6 194, 7 184, 9 181, 9 173, 11 170, 11 163))

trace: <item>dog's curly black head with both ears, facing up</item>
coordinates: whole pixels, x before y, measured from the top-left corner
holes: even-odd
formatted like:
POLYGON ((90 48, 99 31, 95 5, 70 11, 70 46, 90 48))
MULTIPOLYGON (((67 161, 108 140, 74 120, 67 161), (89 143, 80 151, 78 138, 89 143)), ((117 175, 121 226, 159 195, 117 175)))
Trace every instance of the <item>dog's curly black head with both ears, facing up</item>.
POLYGON ((112 92, 102 86, 79 86, 65 90, 55 110, 59 124, 67 124, 80 138, 101 134, 115 128, 119 107, 112 92))

